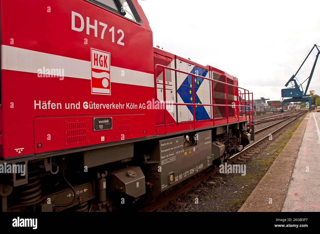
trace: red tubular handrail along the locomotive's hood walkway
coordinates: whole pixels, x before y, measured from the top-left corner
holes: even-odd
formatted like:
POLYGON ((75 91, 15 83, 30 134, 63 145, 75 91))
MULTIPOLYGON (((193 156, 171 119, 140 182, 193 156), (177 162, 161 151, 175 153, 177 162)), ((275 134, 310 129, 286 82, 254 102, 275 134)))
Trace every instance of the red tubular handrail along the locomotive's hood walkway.
MULTIPOLYGON (((239 86, 236 86, 236 85, 232 85, 232 84, 228 84, 227 82, 222 82, 222 81, 219 81, 219 80, 215 80, 215 79, 210 79, 210 78, 207 78, 207 77, 203 77, 203 76, 199 76, 199 75, 195 75, 193 73, 190 73, 190 72, 184 72, 184 71, 181 71, 181 70, 178 70, 178 69, 175 69, 175 68, 171 68, 171 67, 167 67, 167 66, 164 66, 164 65, 160 65, 160 64, 156 64, 155 67, 154 67, 154 76, 155 76, 155 100, 158 99, 157 97, 157 82, 156 82, 156 69, 158 67, 161 67, 162 68, 162 72, 163 72, 163 78, 162 78, 162 83, 163 83, 163 90, 164 90, 164 94, 163 94, 163 97, 164 97, 164 100, 163 100, 163 103, 164 103, 164 129, 165 129, 165 134, 167 134, 167 119, 166 119, 166 89, 165 89, 165 69, 168 69, 168 70, 172 70, 172 71, 175 71, 175 72, 180 72, 180 73, 184 73, 184 74, 187 74, 187 75, 191 75, 191 78, 192 78, 192 103, 170 103, 170 105, 185 105, 185 106, 193 106, 193 126, 194 126, 194 129, 196 129, 196 105, 197 106, 212 106, 212 121, 213 121, 213 126, 214 126, 214 107, 215 106, 225 106, 226 109, 227 109, 227 123, 229 123, 229 116, 228 116, 228 107, 231 106, 231 107, 248 107, 246 105, 246 103, 249 103, 249 130, 251 131, 251 121, 250 121, 250 117, 252 117, 252 123, 253 123, 253 101, 251 102, 252 103, 252 115, 250 115, 250 97, 249 95, 252 94, 252 93, 249 93, 249 90, 245 89, 245 88, 242 88, 242 87, 239 87, 239 86), (212 104, 196 104, 195 103, 195 81, 194 81, 194 77, 200 77, 202 79, 207 79, 207 80, 210 80, 212 81, 212 104), (217 83, 220 83, 220 84, 224 84, 226 85, 226 99, 227 99, 227 104, 223 105, 223 104, 214 104, 214 87, 213 87, 213 82, 217 82, 217 83), (228 86, 232 86, 232 87, 236 87, 238 89, 243 89, 244 90, 244 105, 242 105, 242 97, 240 96, 241 98, 241 105, 228 105, 228 86), (248 93, 246 93, 246 91, 248 91, 248 93), (248 94, 248 102, 246 102, 246 95, 245 94, 248 94)), ((227 78, 226 78, 226 81, 227 81, 227 78)), ((237 101, 238 101, 238 95, 239 95, 239 91, 238 90, 238 94, 237 94, 237 101)), ((241 92, 240 92, 240 95, 241 95, 241 92)), ((253 97, 253 94, 252 94, 252 97, 253 97)), ((253 100, 253 98, 252 98, 253 100)), ((241 114, 242 114, 242 108, 241 108, 241 114)), ((245 114, 247 113, 247 110, 245 109, 245 114)), ((247 117, 247 115, 245 115, 247 117)), ((238 113, 238 121, 239 121, 239 113, 238 113)))

